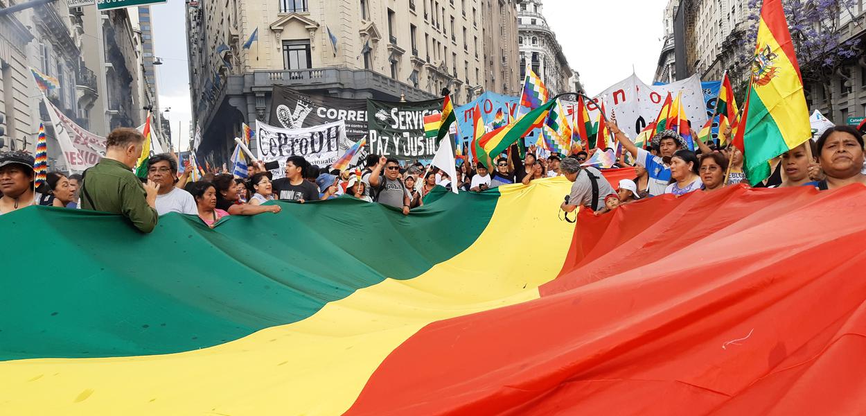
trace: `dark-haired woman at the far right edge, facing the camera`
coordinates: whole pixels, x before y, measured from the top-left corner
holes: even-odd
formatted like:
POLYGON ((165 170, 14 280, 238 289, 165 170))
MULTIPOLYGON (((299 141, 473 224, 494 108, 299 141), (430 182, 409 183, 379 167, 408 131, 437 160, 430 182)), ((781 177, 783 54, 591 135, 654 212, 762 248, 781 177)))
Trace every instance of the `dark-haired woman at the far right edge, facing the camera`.
MULTIPOLYGON (((863 175, 863 136, 850 126, 830 127, 816 143, 818 163, 826 179, 818 183, 818 189, 836 189, 844 185, 864 184, 863 175)), ((810 168, 811 176, 816 169, 810 168)))

